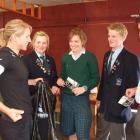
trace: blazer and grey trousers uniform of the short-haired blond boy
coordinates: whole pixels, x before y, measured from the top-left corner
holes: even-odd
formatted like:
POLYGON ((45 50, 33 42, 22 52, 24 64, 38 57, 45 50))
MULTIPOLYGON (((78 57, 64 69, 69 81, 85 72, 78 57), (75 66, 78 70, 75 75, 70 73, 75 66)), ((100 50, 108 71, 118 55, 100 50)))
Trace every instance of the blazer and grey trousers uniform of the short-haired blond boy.
POLYGON ((125 139, 126 118, 122 116, 125 107, 120 105, 118 101, 125 94, 126 89, 137 86, 138 61, 137 57, 125 48, 120 48, 118 51, 120 52, 115 58, 110 72, 108 72, 108 60, 111 52, 106 52, 104 56, 102 77, 97 95, 97 99, 101 101, 99 112, 103 123, 97 128, 96 140, 106 139, 109 132, 111 140, 125 139))

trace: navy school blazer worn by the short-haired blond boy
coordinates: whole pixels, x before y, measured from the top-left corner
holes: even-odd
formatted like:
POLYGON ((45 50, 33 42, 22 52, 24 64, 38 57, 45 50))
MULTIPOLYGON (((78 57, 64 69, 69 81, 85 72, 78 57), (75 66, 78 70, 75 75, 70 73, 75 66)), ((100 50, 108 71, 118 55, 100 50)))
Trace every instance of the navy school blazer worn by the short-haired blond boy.
POLYGON ((138 60, 137 57, 125 48, 117 57, 111 72, 108 74, 107 62, 110 51, 105 53, 103 70, 97 99, 101 101, 100 112, 110 122, 124 123, 121 116, 124 107, 118 104, 119 99, 125 94, 127 88, 138 85, 138 60))

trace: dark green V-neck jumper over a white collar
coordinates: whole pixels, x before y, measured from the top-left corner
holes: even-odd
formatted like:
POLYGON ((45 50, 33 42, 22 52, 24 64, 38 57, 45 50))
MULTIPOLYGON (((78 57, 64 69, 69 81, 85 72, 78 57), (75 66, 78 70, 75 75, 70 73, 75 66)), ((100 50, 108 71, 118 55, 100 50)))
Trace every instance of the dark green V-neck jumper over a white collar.
MULTIPOLYGON (((87 92, 98 85, 99 83, 99 69, 96 56, 89 51, 82 54, 77 60, 66 53, 62 58, 61 78, 66 81, 70 77, 80 84, 80 86, 87 86, 87 92)), ((72 94, 72 91, 64 87, 64 93, 72 94)))

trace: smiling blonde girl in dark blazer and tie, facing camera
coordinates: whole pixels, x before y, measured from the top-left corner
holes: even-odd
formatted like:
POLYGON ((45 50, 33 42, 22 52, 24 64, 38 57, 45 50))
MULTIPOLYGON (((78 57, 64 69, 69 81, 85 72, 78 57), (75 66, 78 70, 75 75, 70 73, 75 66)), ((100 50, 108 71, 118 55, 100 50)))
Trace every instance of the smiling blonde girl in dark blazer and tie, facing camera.
MULTIPOLYGON (((29 71, 29 78, 37 78, 41 77, 43 80, 48 83, 47 85, 51 89, 53 93, 51 95, 52 99, 52 112, 54 113, 55 108, 55 94, 59 93, 59 88, 56 85, 57 80, 57 72, 56 72, 56 65, 53 57, 49 56, 49 36, 44 31, 37 31, 32 39, 32 46, 33 51, 23 56, 23 61, 28 68, 29 71)), ((33 108, 35 110, 36 103, 34 99, 36 99, 36 91, 37 88, 30 86, 30 93, 33 97, 33 108)), ((47 101, 46 101, 47 102, 47 101)), ((54 116, 52 113, 52 116, 54 116)), ((38 130, 41 137, 41 140, 50 139, 49 138, 49 131, 50 129, 50 122, 49 122, 49 113, 45 112, 43 105, 39 104, 38 108, 38 130)), ((52 118, 53 120, 54 118, 52 118)))

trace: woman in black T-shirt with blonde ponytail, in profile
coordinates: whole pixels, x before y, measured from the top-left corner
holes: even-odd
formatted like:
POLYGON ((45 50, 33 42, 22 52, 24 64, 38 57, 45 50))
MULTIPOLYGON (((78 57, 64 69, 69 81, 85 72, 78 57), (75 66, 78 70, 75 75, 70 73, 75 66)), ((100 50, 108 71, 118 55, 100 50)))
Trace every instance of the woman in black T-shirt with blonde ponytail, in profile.
POLYGON ((28 70, 20 58, 20 50, 26 50, 31 42, 32 27, 20 19, 7 22, 0 30, 0 136, 3 140, 29 140, 32 113, 28 70), (16 108, 16 109, 15 109, 16 108))

